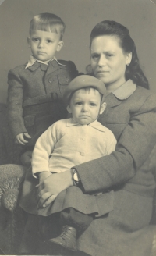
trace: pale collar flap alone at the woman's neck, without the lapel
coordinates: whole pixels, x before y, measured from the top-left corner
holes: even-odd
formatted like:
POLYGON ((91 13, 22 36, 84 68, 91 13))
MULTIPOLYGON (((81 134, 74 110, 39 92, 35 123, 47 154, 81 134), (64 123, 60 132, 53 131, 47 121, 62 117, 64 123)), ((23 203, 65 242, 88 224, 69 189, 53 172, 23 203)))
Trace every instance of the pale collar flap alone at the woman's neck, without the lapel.
POLYGON ((136 89, 137 85, 133 83, 133 80, 129 79, 115 91, 112 91, 112 94, 114 94, 119 100, 125 100, 126 98, 129 98, 136 89))

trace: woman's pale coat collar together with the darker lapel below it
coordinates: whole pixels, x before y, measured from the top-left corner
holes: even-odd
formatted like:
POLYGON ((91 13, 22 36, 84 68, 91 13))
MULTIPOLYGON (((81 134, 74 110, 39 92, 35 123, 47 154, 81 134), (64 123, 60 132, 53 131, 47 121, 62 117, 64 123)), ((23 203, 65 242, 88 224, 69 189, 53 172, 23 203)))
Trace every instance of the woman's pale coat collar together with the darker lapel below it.
POLYGON ((119 105, 123 100, 129 98, 130 95, 132 95, 133 92, 136 91, 136 89, 137 85, 133 83, 133 80, 129 79, 128 81, 126 81, 126 83, 122 84, 119 88, 117 88, 115 91, 112 91, 112 93, 106 96, 105 101, 108 105, 108 108, 119 105))

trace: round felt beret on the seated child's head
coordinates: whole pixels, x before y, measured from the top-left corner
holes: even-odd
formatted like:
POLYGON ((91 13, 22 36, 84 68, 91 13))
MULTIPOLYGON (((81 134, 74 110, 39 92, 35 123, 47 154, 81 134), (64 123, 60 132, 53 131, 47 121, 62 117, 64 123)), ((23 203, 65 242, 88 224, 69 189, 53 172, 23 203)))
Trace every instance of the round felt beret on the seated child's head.
POLYGON ((66 87, 66 90, 63 94, 63 101, 66 105, 69 105, 69 101, 71 98, 71 95, 80 89, 87 88, 87 87, 94 87, 99 93, 103 94, 105 97, 106 94, 106 87, 105 84, 97 79, 94 76, 88 76, 88 75, 81 75, 74 78, 66 87))

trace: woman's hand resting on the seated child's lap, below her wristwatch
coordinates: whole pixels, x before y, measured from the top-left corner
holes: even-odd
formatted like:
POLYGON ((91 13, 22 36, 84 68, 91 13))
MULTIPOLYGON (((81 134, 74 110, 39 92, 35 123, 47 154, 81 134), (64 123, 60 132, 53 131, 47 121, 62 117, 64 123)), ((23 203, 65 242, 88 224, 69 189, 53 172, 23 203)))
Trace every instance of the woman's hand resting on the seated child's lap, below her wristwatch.
POLYGON ((73 172, 70 169, 48 176, 38 185, 37 208, 48 206, 62 190, 70 186, 73 186, 73 172))

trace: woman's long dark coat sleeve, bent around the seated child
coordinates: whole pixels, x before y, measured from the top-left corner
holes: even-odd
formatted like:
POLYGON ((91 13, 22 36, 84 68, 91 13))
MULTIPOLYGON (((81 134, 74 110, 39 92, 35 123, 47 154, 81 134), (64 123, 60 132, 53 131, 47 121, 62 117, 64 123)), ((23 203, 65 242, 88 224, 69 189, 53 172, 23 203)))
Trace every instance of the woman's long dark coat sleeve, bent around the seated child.
POLYGON ((156 98, 150 95, 133 114, 111 155, 75 166, 86 192, 126 183, 149 157, 156 143, 156 98))

